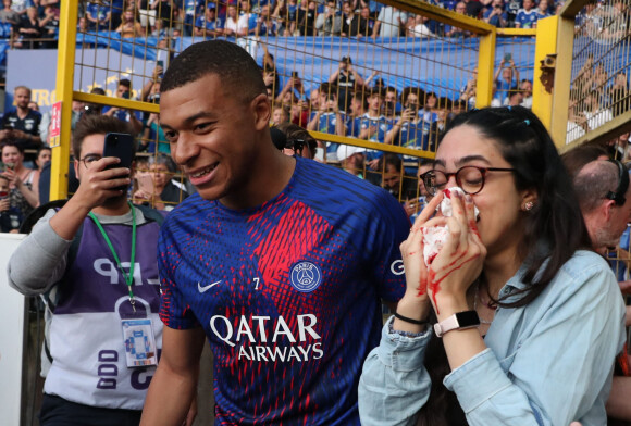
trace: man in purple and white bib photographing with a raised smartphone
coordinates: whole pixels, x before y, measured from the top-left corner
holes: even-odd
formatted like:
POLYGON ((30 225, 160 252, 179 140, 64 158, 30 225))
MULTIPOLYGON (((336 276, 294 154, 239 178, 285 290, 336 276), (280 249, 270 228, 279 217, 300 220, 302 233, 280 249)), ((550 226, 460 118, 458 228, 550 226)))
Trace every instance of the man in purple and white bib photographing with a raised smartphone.
MULTIPOLYGON (((128 203, 120 188, 129 185, 129 168, 103 158, 106 135, 131 131, 104 115, 78 122, 79 187, 63 208, 46 213, 9 262, 10 286, 47 301, 42 426, 137 425, 156 369, 162 216, 128 203)), ((133 155, 127 145, 122 148, 133 155)))

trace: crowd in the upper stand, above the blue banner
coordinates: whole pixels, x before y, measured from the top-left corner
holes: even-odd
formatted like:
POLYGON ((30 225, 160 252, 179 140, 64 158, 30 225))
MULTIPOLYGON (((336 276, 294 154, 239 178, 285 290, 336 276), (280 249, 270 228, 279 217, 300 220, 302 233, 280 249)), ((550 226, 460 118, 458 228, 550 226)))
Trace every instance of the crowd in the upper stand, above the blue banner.
MULTIPOLYGON (((429 0, 497 27, 533 28, 562 2, 541 0, 429 0)), ((57 47, 60 0, 3 0, 0 38, 14 48, 57 47)), ((109 0, 81 2, 78 29, 121 37, 348 36, 469 37, 373 0, 109 0)))

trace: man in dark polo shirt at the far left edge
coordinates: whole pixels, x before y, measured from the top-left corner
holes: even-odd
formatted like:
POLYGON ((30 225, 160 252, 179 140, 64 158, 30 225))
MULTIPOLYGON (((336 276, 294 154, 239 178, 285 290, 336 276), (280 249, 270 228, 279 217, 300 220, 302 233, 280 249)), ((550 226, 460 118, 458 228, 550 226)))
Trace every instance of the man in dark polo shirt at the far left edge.
POLYGON ((2 116, 2 130, 0 130, 0 143, 14 141, 22 149, 36 149, 41 145, 39 137, 39 123, 41 114, 28 108, 30 102, 30 89, 17 86, 13 90, 15 109, 2 116))

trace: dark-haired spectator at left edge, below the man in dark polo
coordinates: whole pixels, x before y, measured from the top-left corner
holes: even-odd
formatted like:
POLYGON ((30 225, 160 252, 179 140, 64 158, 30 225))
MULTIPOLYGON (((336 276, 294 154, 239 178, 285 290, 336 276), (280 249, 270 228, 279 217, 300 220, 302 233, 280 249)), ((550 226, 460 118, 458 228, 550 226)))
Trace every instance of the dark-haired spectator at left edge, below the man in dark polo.
POLYGON ((10 183, 11 206, 24 220, 39 205, 39 173, 24 166, 24 149, 15 142, 4 142, 2 148, 2 175, 10 183))

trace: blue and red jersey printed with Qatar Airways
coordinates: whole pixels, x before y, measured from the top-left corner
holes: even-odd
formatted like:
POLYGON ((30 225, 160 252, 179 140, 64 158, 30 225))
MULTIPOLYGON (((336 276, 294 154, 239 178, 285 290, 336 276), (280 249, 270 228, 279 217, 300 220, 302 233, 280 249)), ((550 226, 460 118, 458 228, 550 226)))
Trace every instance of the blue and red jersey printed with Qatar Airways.
POLYGON ((409 227, 383 189, 301 158, 260 206, 195 195, 170 213, 160 316, 203 327, 215 425, 359 425, 361 366, 379 343, 380 299, 405 291, 409 227))

